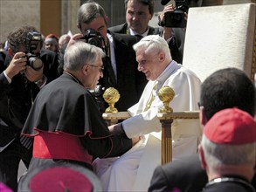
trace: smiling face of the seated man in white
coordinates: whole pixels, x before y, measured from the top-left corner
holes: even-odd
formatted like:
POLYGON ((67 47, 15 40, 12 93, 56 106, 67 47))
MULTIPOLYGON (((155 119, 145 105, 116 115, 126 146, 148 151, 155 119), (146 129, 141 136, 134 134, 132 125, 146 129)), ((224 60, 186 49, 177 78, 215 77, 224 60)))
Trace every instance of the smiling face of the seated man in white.
POLYGON ((147 52, 146 48, 141 48, 136 51, 136 60, 138 62, 138 70, 144 72, 148 80, 156 80, 166 66, 163 65, 163 51, 147 52))

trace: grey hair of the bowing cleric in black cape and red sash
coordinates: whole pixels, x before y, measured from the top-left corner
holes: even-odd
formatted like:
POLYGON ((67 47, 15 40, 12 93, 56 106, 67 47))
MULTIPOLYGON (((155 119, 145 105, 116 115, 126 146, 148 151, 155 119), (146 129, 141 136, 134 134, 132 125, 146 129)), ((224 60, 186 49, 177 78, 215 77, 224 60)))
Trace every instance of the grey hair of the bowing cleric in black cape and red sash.
POLYGON ((105 57, 105 53, 99 47, 77 41, 66 49, 63 68, 78 71, 84 65, 95 63, 99 54, 101 58, 105 57))

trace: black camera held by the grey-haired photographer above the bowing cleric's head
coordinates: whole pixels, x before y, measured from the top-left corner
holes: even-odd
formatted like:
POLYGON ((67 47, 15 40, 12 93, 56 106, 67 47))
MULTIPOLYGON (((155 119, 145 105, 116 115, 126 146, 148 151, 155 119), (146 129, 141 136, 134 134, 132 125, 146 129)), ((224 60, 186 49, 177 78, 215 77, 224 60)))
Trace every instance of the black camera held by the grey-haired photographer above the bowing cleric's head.
POLYGON ((103 38, 101 37, 100 32, 98 31, 88 29, 86 30, 84 37, 81 39, 86 39, 86 43, 90 45, 95 45, 97 47, 100 47, 101 49, 103 48, 103 38))

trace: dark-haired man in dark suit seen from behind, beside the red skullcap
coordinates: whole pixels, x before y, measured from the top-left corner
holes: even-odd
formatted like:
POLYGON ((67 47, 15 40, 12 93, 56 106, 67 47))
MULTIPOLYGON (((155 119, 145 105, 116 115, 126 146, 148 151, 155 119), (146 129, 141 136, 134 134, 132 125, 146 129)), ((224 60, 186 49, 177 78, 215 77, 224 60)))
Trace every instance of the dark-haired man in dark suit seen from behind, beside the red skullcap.
MULTIPOLYGON (((226 68, 213 72, 201 86, 200 113, 204 113, 201 123, 206 124, 218 111, 237 106, 255 115, 255 87, 245 72, 236 68, 226 68)), ((202 116, 202 115, 201 115, 202 116)), ((201 191, 208 181, 206 172, 197 154, 179 161, 173 161, 155 169, 149 191, 186 192, 201 191)), ((256 175, 253 178, 256 186, 256 175)))

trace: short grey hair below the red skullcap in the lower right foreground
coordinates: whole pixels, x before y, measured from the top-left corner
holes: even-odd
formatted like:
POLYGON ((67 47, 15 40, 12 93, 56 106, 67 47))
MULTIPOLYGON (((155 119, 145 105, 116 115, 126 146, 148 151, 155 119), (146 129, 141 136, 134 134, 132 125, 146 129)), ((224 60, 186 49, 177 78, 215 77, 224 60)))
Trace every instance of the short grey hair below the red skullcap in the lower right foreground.
POLYGON ((205 161, 211 168, 219 165, 254 164, 256 161, 256 142, 244 145, 218 144, 203 135, 201 145, 205 161))

